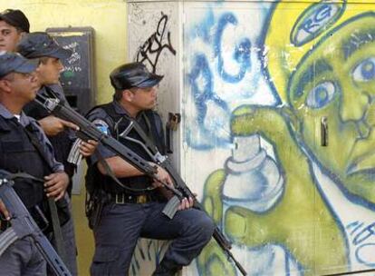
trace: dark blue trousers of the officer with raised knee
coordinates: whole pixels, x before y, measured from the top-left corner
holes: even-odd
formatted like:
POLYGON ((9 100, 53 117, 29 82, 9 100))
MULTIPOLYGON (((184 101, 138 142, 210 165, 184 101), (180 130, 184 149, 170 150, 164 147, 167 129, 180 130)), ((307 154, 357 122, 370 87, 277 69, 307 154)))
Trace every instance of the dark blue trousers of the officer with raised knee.
POLYGON ((170 220, 161 211, 165 203, 104 206, 101 222, 94 229, 95 253, 91 275, 128 275, 139 237, 173 240, 163 260, 177 266, 189 264, 209 242, 215 224, 205 212, 178 211, 170 220))

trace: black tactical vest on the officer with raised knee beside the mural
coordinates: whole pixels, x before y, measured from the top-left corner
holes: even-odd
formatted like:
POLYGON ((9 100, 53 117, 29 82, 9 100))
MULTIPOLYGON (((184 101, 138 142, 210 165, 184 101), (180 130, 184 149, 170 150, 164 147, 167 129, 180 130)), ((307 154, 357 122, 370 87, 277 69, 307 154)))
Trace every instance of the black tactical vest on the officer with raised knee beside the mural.
MULTIPOLYGON (((99 106, 94 107, 92 110, 96 108, 101 108, 111 117, 111 123, 109 125, 109 131, 111 132, 112 137, 117 139, 120 143, 123 143, 126 147, 128 147, 134 153, 139 154, 140 157, 147 161, 151 161, 151 158, 148 153, 142 148, 141 145, 138 143, 133 143, 124 138, 120 137, 120 133, 122 133, 130 124, 130 120, 127 116, 123 114, 116 113, 114 109, 114 105, 110 104, 102 104, 99 106)), ((153 111, 144 111, 142 114, 143 119, 141 120, 141 127, 145 131, 145 133, 149 136, 149 139, 158 147, 159 152, 164 154, 165 153, 165 143, 164 143, 164 133, 162 129, 161 119, 158 113, 154 113, 153 111), (149 123, 147 123, 149 122, 149 123)), ((139 137, 139 134, 133 129, 128 133, 128 136, 143 142, 142 139, 139 137)), ((135 176, 135 177, 126 177, 126 178, 119 178, 120 182, 123 183, 125 186, 130 187, 132 189, 136 189, 139 191, 129 191, 126 190, 116 182, 114 182, 111 177, 103 175, 99 172, 96 164, 92 165, 90 161, 88 162, 89 168, 86 174, 86 186, 88 191, 93 188, 91 187, 91 183, 94 187, 100 187, 105 192, 125 192, 130 194, 142 194, 146 191, 142 191, 143 189, 147 189, 150 187, 152 179, 149 176, 135 176)))

